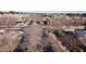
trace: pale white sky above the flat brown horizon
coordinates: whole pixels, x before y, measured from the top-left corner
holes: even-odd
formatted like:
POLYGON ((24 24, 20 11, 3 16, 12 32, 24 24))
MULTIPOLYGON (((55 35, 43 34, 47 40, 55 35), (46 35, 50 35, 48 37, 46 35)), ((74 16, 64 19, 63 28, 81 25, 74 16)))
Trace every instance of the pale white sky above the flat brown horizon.
POLYGON ((0 11, 86 11, 85 0, 0 0, 0 11))

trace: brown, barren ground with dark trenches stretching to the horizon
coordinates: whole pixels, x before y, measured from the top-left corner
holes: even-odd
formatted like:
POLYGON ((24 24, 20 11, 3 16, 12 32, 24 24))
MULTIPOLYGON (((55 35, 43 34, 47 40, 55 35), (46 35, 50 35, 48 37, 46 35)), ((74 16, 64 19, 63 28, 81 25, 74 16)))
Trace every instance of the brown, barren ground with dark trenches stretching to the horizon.
POLYGON ((0 52, 86 52, 86 13, 0 12, 0 52))

